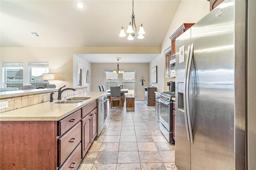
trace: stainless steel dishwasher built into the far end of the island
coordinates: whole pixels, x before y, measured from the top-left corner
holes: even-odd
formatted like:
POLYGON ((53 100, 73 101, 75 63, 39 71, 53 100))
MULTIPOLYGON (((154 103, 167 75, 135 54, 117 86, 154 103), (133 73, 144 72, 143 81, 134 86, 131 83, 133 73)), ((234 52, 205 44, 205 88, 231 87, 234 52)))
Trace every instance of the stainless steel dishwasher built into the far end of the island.
POLYGON ((98 105, 98 129, 97 129, 97 136, 100 135, 103 127, 104 127, 104 99, 107 98, 107 94, 98 98, 97 105, 98 105))

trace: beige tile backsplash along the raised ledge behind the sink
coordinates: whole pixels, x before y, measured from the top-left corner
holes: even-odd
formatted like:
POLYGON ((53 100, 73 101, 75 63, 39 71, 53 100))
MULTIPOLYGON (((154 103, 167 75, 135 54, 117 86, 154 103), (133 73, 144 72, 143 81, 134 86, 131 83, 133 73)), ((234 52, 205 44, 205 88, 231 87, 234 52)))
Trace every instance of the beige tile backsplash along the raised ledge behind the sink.
MULTIPOLYGON (((76 88, 76 91, 73 90, 66 90, 62 93, 62 99, 68 96, 72 96, 75 94, 80 94, 87 92, 87 87, 83 88, 76 88)), ((30 94, 30 95, 24 95, 24 96, 16 96, 11 98, 2 98, 0 99, 0 102, 8 101, 8 108, 0 109, 0 113, 5 111, 10 111, 14 109, 18 109, 21 107, 31 106, 34 104, 39 104, 43 102, 49 102, 50 101, 50 94, 51 92, 46 93, 39 93, 39 94, 30 94)), ((53 100, 58 99, 58 89, 54 92, 53 100)))

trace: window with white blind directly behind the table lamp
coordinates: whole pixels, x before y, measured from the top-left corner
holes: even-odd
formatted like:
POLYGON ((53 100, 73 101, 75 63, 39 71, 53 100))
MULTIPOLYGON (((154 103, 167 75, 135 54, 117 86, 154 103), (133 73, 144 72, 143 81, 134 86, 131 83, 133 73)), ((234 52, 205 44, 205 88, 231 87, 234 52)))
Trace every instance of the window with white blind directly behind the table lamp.
POLYGON ((40 62, 40 63, 28 63, 29 67, 29 77, 30 84, 35 85, 36 88, 43 87, 46 88, 48 80, 43 80, 43 73, 49 73, 49 63, 40 62))

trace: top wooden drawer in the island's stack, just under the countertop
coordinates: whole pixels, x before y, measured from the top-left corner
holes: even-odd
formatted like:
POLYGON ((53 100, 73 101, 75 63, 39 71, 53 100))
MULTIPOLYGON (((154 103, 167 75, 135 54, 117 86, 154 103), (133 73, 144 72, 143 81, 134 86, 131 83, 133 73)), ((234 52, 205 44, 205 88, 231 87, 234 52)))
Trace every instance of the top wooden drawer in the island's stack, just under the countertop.
POLYGON ((58 136, 64 134, 81 119, 81 109, 58 121, 58 136))

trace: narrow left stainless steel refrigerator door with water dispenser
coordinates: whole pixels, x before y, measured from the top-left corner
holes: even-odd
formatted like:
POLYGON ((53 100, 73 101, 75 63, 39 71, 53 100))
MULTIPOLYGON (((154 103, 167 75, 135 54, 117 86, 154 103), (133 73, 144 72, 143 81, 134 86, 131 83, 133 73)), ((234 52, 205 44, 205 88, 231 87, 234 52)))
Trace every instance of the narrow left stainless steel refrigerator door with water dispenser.
POLYGON ((179 170, 190 170, 190 137, 188 121, 184 112, 184 74, 188 49, 190 49, 188 29, 176 39, 176 77, 175 77, 175 165, 179 170))

